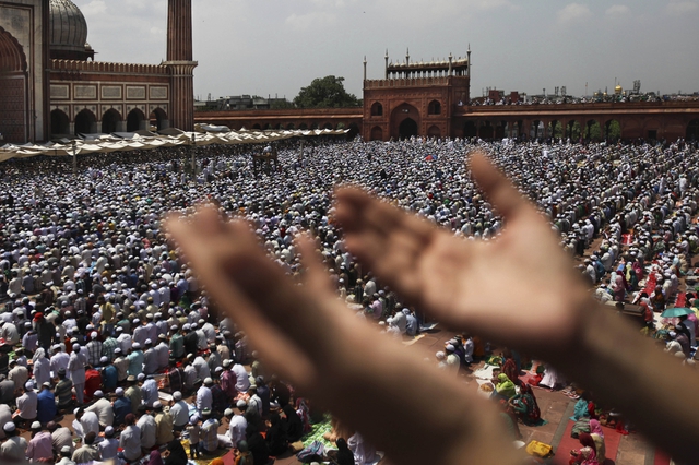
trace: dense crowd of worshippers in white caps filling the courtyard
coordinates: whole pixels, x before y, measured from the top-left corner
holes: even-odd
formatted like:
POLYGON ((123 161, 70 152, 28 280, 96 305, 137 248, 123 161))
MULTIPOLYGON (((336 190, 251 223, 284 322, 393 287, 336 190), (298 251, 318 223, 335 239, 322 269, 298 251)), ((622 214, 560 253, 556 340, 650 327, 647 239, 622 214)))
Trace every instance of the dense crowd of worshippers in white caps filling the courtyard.
MULTIPOLYGON (((339 298, 394 337, 414 337, 430 322, 346 251, 332 219, 340 183, 362 184, 464 240, 489 241, 505 225, 464 163, 485 150, 570 254, 587 257, 602 238, 580 265, 595 296, 640 301, 651 317, 676 298, 699 247, 699 155, 684 143, 286 141, 270 174, 252 169, 258 148, 199 147, 193 172, 181 147, 81 157, 78 176, 56 157, 0 165, 1 454, 176 465, 232 448, 241 463, 259 465, 309 431, 318 413, 265 372, 161 230, 166 213, 192 213, 201 202, 247 218, 289 274, 301 271, 294 237, 310 231, 339 298), (652 291, 632 294, 649 275, 652 291), (71 413, 75 420, 61 424, 71 413), (20 434, 26 429, 29 441, 20 434)), ((689 326, 674 332, 682 349, 689 326)), ((487 341, 462 334, 437 363, 458 373, 487 351, 487 341)), ((500 382, 499 394, 516 392, 500 382)), ((511 404, 532 415, 533 394, 517 395, 511 404)), ((356 463, 376 456, 356 431, 334 439, 356 463)))

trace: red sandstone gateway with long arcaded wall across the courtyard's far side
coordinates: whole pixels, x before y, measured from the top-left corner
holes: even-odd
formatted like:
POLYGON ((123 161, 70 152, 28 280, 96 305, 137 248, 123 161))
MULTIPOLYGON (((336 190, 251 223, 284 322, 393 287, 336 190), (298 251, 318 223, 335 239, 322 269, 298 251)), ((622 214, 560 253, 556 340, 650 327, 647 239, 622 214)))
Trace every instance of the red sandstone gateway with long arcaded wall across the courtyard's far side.
POLYGON ((472 105, 471 48, 465 57, 394 62, 367 78, 364 106, 336 109, 197 111, 196 122, 240 130, 350 129, 365 141, 423 138, 699 140, 699 102, 472 105), (612 136, 614 132, 615 136, 612 136))

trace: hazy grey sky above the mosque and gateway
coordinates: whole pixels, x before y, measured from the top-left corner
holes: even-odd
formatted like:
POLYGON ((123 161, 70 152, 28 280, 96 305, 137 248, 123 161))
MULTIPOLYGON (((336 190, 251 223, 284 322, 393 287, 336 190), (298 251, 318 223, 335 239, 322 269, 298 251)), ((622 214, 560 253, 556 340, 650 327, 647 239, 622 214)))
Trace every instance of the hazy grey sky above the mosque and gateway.
MULTIPOLYGON (((73 0, 100 61, 165 58, 167 0, 73 0)), ((486 86, 568 94, 625 88, 699 91, 699 0, 193 0, 194 92, 293 98, 328 74, 362 94, 393 61, 465 56, 471 95, 486 86)))

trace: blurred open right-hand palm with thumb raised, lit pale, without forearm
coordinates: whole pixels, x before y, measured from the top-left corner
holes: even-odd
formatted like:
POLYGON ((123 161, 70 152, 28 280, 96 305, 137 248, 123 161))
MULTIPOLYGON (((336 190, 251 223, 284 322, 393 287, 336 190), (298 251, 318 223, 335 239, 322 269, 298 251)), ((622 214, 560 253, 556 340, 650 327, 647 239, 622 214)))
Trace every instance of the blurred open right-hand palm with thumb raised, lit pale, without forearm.
POLYGON ((404 299, 440 322, 540 355, 572 341, 588 296, 541 214, 485 156, 475 180, 507 222, 469 241, 360 189, 337 191, 347 248, 404 299))

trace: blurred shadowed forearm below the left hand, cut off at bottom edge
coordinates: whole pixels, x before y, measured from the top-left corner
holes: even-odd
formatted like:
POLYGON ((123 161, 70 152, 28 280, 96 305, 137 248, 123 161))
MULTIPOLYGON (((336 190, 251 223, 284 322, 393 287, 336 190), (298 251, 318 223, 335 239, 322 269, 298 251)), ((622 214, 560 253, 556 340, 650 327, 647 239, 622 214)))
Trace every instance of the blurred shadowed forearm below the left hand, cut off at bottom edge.
POLYGON ((351 337, 343 344, 348 354, 335 359, 341 372, 328 373, 333 381, 323 404, 343 422, 401 465, 522 463, 494 403, 426 365, 419 353, 374 337, 370 344, 351 337))

